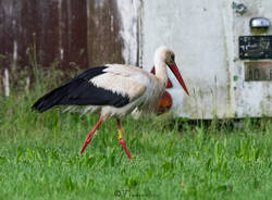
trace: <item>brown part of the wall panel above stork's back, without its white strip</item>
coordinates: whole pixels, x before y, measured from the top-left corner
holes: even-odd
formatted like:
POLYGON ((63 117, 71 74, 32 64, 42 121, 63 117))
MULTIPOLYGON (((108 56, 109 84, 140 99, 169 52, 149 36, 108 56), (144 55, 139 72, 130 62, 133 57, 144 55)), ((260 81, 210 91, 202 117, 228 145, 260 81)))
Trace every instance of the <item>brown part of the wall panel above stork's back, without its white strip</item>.
POLYGON ((123 63, 123 40, 116 0, 87 0, 88 65, 123 63))

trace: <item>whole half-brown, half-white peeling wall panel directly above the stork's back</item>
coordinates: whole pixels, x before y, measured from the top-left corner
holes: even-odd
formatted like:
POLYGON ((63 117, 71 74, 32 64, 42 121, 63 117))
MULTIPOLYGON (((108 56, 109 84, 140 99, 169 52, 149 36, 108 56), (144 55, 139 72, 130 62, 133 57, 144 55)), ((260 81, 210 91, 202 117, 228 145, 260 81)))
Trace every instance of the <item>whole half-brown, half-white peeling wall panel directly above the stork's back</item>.
POLYGON ((138 63, 139 0, 88 0, 88 64, 138 63), (103 62, 103 63, 102 63, 103 62))

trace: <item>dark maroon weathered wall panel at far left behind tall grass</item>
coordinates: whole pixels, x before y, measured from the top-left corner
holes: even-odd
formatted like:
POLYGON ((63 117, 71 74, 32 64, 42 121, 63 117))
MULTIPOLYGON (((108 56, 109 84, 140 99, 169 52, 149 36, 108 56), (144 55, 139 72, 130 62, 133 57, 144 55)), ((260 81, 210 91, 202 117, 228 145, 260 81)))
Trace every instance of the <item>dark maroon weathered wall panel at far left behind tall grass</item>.
POLYGON ((28 65, 27 49, 35 42, 38 63, 87 64, 86 1, 0 0, 0 54, 5 65, 28 65), (84 12, 83 12, 84 11, 84 12))

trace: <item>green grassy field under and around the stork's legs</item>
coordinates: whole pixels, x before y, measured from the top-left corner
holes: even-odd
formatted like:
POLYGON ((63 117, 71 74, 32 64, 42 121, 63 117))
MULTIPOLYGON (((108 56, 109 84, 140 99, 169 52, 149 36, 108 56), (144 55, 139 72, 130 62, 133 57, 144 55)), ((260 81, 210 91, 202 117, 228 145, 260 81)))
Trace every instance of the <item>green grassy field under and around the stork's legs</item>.
MULTIPOLYGON (((24 84, 22 84, 24 85, 24 84)), ((79 157, 97 116, 30 111, 37 85, 0 97, 0 199, 270 199, 271 118, 188 122, 170 115, 103 122, 79 157)))

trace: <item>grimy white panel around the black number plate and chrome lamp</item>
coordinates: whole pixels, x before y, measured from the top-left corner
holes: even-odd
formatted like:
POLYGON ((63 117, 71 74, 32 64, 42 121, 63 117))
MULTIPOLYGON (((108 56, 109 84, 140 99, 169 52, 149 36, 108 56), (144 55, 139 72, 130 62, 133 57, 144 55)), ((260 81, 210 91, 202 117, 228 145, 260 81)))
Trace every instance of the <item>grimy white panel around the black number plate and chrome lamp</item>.
POLYGON ((247 51, 251 51, 255 57, 260 59, 242 60, 238 50, 239 39, 243 41, 247 40, 247 38, 252 39, 252 37, 259 37, 263 40, 264 46, 270 46, 270 39, 269 37, 265 38, 265 36, 272 35, 272 28, 270 27, 268 30, 260 33, 255 32, 250 29, 250 20, 265 17, 271 23, 272 1, 245 0, 237 3, 243 3, 242 5, 246 8, 246 12, 244 14, 233 13, 235 115, 238 117, 272 116, 272 74, 270 75, 272 73, 272 58, 262 58, 261 49, 258 49, 261 45, 260 41, 246 42, 248 45, 247 51), (251 37, 243 38, 240 36, 251 37))

